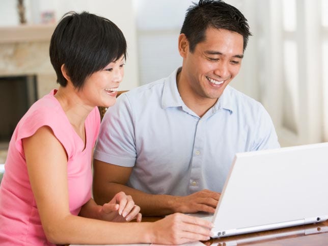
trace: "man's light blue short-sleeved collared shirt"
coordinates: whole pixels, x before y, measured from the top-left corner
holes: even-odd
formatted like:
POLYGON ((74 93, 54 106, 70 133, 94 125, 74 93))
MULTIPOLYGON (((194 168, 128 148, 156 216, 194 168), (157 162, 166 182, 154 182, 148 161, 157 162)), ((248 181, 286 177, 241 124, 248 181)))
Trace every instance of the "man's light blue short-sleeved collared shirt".
POLYGON ((230 86, 200 118, 180 97, 177 71, 118 97, 94 158, 133 167, 127 185, 149 194, 222 192, 235 153, 280 147, 274 125, 261 103, 230 86))

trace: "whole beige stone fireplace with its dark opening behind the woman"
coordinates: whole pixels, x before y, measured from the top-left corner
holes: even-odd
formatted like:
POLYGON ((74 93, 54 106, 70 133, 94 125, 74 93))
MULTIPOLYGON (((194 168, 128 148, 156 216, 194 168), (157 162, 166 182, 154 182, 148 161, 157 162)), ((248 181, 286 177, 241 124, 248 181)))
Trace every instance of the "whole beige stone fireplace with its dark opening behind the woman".
MULTIPOLYGON (((49 43, 54 28, 54 25, 47 24, 0 28, 2 119, 17 118, 17 112, 14 111, 24 114, 21 110, 26 112, 35 100, 58 87, 56 73, 49 59, 49 43), (22 93, 25 93, 24 96, 22 93), (22 107, 18 110, 16 106, 20 104, 22 107)), ((10 130, 14 127, 10 126, 10 130)), ((0 130, 1 138, 7 134, 4 131, 8 129, 0 124, 0 130)), ((6 146, 4 142, 6 141, 0 139, 0 148, 6 146)))

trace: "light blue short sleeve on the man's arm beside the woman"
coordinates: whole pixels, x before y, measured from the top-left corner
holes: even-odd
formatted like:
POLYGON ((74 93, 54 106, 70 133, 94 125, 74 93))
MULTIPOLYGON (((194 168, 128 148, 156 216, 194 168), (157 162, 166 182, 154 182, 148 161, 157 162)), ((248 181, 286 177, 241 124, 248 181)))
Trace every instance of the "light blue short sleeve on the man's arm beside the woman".
POLYGON ((133 167, 136 159, 131 104, 123 94, 108 108, 99 130, 94 158, 122 167, 133 167))

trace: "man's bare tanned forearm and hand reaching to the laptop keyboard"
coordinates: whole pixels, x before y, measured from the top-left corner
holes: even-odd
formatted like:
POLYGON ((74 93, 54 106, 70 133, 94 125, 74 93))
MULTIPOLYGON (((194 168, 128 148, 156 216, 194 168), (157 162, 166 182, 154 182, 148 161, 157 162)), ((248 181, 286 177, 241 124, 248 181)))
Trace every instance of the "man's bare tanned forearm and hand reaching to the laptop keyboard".
POLYGON ((220 193, 201 190, 189 196, 152 195, 126 186, 132 167, 120 167, 94 159, 93 196, 102 205, 115 194, 124 192, 132 196, 135 204, 141 207, 146 216, 162 216, 174 212, 195 213, 198 211, 214 213, 220 193))

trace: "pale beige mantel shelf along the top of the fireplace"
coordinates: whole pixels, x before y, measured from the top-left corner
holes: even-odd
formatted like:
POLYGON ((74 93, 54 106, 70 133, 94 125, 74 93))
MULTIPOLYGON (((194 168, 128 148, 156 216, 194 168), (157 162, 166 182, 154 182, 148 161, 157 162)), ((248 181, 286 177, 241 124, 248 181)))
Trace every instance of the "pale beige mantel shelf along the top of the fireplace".
POLYGON ((0 27, 0 43, 50 41, 55 28, 55 24, 2 26, 0 27))

